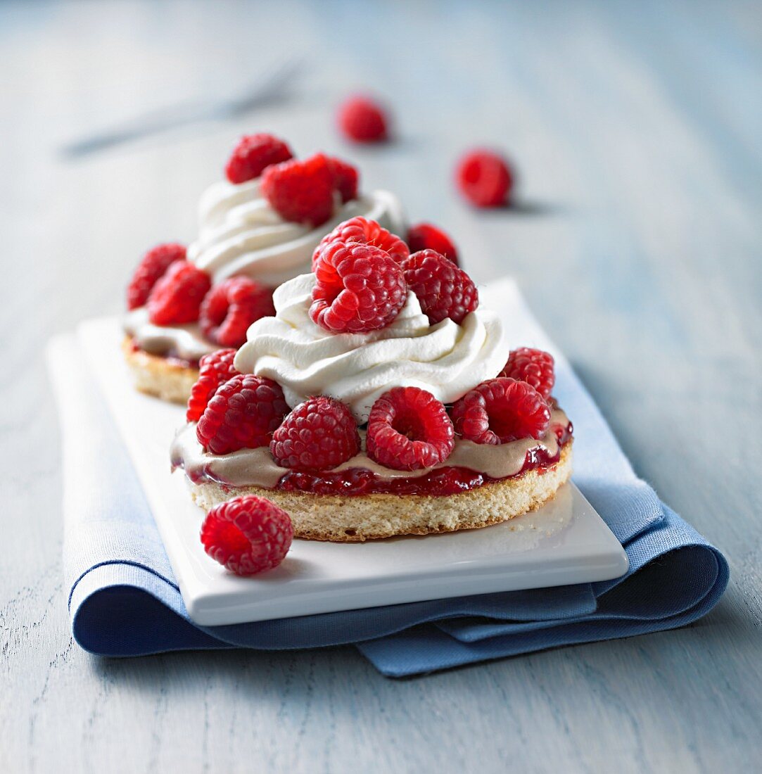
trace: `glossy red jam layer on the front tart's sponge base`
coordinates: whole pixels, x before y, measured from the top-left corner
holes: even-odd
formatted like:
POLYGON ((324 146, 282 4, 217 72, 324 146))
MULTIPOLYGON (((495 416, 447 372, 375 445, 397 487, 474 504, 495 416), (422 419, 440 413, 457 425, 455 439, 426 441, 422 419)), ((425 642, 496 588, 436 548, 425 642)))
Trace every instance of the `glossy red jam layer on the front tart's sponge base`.
POLYGON ((467 467, 438 467, 436 470, 418 478, 378 478, 371 471, 361 467, 324 473, 302 473, 289 471, 276 489, 285 491, 303 491, 313 495, 429 495, 443 497, 457 495, 460 492, 477 489, 494 481, 516 478, 526 471, 545 471, 559 461, 562 448, 572 437, 572 424, 559 433, 559 453, 551 456, 545 449, 535 448, 527 452, 524 466, 514 476, 491 478, 483 473, 471 471, 467 467))

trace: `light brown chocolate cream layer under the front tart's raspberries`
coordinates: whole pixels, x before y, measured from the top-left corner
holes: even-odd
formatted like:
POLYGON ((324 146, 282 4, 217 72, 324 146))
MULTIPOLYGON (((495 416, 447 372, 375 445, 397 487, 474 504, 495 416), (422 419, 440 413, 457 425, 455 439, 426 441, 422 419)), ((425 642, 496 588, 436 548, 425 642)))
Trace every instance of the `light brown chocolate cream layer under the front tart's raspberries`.
MULTIPOLYGON (((559 454, 559 440, 555 430, 566 430, 569 418, 561 409, 551 413, 550 424, 545 435, 539 439, 522 438, 507 444, 474 444, 473 441, 458 438, 452 454, 435 467, 418 471, 395 471, 374 462, 364 450, 350 460, 332 469, 333 472, 360 467, 371 471, 378 478, 388 481, 394 478, 419 478, 440 467, 467 467, 491 478, 507 478, 521 472, 531 450, 543 450, 548 458, 559 454)), ((364 435, 364 433, 360 433, 364 435)), ((173 467, 182 467, 190 481, 216 481, 227 486, 260 486, 274 489, 278 481, 289 473, 289 468, 280 467, 270 454, 268 447, 239 449, 231 454, 208 454, 196 438, 196 423, 189 423, 177 433, 170 450, 173 467)))

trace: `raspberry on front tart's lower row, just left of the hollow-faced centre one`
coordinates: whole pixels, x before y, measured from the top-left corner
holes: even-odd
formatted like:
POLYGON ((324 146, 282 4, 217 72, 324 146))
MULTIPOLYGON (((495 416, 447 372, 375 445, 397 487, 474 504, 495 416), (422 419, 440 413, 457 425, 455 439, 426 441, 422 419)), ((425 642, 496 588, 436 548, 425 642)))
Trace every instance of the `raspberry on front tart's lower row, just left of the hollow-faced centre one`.
POLYGON ((328 470, 359 450, 360 434, 349 407, 327 396, 299 403, 270 442, 275 462, 297 471, 328 470))

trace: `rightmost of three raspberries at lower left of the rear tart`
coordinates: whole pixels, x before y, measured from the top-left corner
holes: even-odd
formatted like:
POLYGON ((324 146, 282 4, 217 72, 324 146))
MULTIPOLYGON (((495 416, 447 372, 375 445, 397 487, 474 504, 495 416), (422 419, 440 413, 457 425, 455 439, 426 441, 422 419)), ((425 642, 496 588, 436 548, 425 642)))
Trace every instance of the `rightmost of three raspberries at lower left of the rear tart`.
POLYGON ((203 333, 215 344, 238 348, 255 320, 273 314, 271 289, 248 277, 230 277, 204 297, 199 322, 203 333))

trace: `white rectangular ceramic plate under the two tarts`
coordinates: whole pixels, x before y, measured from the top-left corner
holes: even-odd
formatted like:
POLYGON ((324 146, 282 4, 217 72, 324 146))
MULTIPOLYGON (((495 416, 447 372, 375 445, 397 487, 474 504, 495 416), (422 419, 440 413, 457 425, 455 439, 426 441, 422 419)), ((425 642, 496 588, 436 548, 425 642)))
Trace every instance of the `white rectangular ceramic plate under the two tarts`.
POLYGON ((518 519, 484 529, 367 543, 294 540, 276 570, 241 578, 207 557, 203 512, 169 472, 182 406, 135 392, 118 320, 80 326, 80 343, 128 449, 193 621, 223 625, 495 591, 609 580, 627 554, 573 485, 518 519))

